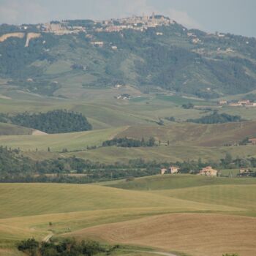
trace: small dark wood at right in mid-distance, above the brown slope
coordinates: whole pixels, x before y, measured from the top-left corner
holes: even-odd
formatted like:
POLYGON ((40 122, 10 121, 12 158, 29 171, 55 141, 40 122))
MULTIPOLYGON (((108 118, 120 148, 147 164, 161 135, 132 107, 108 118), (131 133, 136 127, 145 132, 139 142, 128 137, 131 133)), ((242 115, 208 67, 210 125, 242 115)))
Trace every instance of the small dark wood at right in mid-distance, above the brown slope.
POLYGON ((239 122, 245 121, 241 116, 232 116, 227 113, 219 114, 217 111, 214 111, 209 116, 203 116, 197 119, 188 119, 188 122, 197 123, 197 124, 224 124, 229 122, 239 122))

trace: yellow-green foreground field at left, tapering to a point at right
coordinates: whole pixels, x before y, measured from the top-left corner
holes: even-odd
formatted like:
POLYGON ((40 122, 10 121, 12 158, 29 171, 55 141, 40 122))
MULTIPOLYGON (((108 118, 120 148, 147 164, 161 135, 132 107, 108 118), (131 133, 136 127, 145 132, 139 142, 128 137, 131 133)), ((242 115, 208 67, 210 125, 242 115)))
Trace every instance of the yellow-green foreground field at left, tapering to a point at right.
MULTIPOLYGON (((37 214, 96 211, 111 208, 173 208, 181 210, 214 207, 176 200, 146 192, 125 191, 111 187, 68 184, 0 184, 1 218, 37 214)), ((228 210, 229 208, 223 208, 228 210)), ((221 208, 219 208, 221 210, 221 208)), ((230 208, 232 210, 232 208, 230 208)))

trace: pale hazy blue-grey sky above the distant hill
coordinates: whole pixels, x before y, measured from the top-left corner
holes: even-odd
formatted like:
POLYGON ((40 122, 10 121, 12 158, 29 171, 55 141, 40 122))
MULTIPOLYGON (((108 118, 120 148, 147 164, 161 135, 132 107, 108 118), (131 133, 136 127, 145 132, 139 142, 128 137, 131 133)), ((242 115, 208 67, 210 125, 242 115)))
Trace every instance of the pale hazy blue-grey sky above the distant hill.
POLYGON ((256 0, 0 0, 0 23, 164 14, 189 28, 256 37, 256 0))

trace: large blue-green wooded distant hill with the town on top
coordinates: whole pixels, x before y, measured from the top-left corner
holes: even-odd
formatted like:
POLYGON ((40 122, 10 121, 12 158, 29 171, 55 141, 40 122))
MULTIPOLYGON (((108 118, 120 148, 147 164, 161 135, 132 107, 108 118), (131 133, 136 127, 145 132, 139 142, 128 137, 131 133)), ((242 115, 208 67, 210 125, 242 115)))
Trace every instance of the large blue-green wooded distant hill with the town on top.
POLYGON ((117 84, 204 98, 256 89, 255 38, 188 30, 161 17, 155 27, 129 21, 122 30, 86 20, 67 22, 78 31, 66 23, 2 25, 0 77, 12 89, 72 98, 117 84))

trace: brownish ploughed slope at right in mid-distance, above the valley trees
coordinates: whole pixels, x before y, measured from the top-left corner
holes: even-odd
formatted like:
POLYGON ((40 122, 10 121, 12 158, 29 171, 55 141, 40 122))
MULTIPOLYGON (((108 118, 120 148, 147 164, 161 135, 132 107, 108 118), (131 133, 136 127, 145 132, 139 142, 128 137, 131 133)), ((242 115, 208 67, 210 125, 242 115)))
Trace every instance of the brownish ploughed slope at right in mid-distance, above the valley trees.
POLYGON ((155 137, 170 144, 182 144, 193 146, 223 146, 225 143, 238 142, 246 137, 256 135, 256 122, 227 123, 227 124, 173 124, 166 127, 129 127, 119 138, 143 136, 155 137))

